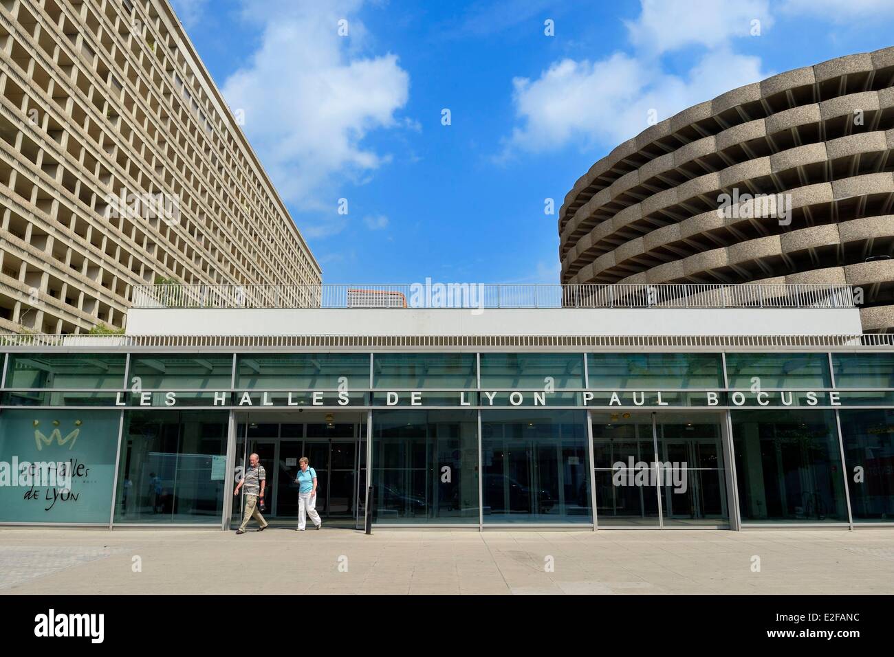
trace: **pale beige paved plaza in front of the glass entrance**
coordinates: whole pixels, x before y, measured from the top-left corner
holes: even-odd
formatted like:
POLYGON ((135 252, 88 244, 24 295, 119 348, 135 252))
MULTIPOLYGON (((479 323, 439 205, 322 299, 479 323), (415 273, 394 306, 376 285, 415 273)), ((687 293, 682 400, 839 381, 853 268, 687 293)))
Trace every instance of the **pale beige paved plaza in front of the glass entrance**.
POLYGON ((2 594, 232 594, 237 587, 245 594, 890 594, 894 531, 0 530, 2 594))

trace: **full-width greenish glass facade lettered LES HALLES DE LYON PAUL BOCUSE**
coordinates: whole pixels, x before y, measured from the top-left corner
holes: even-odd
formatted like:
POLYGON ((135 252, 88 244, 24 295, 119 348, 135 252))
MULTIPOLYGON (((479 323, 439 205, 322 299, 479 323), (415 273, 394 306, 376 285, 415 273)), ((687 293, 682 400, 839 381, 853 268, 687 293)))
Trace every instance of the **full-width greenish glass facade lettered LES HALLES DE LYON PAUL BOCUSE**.
POLYGON ((367 501, 407 526, 894 518, 890 350, 32 349, 0 365, 0 524, 227 526, 252 452, 274 520, 297 514, 302 456, 317 510, 357 526, 367 501))

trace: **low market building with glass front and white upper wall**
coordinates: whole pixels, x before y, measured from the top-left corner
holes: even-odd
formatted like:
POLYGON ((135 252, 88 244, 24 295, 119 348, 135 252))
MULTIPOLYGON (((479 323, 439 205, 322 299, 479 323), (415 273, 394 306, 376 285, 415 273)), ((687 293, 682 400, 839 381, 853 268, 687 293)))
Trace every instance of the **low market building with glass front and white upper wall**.
POLYGON ((184 288, 0 335, 0 525, 235 529, 256 453, 292 528, 302 456, 324 526, 894 526, 894 335, 850 286, 184 288))

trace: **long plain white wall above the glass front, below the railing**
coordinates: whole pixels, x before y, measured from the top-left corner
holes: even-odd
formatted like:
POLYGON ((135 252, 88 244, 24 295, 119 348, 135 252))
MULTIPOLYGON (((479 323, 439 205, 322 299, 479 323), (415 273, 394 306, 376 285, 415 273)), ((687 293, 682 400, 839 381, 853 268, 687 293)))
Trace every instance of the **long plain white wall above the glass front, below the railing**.
POLYGON ((127 333, 819 335, 862 328, 856 308, 132 308, 127 333))

